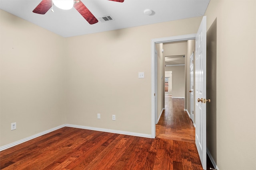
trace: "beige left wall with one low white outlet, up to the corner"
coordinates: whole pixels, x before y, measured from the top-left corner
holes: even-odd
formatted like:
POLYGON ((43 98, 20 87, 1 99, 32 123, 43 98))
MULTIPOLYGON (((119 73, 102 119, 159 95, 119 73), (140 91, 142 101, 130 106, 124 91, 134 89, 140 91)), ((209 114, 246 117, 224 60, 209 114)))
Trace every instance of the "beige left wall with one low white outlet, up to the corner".
POLYGON ((0 38, 3 146, 65 123, 65 60, 63 37, 3 10, 0 38))

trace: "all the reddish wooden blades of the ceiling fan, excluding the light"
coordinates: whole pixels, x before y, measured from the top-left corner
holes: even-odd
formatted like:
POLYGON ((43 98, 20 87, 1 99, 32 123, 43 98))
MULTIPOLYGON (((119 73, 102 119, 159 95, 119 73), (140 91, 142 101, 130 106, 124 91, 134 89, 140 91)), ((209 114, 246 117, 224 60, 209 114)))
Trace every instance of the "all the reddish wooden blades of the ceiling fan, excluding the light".
MULTIPOLYGON (((62 0, 62 1, 65 1, 65 0, 62 0)), ((111 1, 124 2, 124 0, 111 0, 111 1)), ((45 14, 48 10, 50 10, 53 4, 54 4, 54 0, 42 0, 38 4, 38 6, 36 6, 33 12, 36 14, 45 14)), ((94 24, 98 22, 95 16, 90 12, 90 10, 88 10, 88 8, 81 2, 81 0, 74 0, 73 6, 84 17, 84 19, 88 21, 88 23, 94 24)))

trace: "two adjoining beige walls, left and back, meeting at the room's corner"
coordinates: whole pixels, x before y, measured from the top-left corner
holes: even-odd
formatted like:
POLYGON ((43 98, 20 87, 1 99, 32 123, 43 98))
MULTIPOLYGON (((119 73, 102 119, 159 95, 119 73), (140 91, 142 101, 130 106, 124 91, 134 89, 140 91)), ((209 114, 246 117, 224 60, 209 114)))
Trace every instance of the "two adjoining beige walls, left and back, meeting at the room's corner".
POLYGON ((64 123, 151 134, 151 39, 195 33, 202 18, 64 39, 0 11, 1 146, 64 123))

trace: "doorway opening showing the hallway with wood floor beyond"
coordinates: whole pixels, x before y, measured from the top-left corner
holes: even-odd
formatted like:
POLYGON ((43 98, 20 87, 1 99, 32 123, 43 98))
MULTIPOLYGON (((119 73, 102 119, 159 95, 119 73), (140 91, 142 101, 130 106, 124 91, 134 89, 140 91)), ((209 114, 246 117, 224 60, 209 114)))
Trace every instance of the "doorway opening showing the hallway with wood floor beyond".
MULTIPOLYGON (((158 46, 156 45, 156 49, 159 51, 158 46)), ((195 51, 195 40, 167 42, 163 43, 162 48, 163 56, 159 55, 158 61, 163 58, 164 66, 158 63, 158 72, 162 72, 162 69, 165 71, 165 80, 162 84, 165 109, 156 124, 156 137, 195 143, 195 127, 190 119, 190 110, 187 110, 190 96, 186 96, 185 104, 185 92, 190 90, 189 59, 190 53, 195 51), (172 88, 172 91, 169 88, 172 88)), ((159 78, 158 85, 161 86, 159 78)))

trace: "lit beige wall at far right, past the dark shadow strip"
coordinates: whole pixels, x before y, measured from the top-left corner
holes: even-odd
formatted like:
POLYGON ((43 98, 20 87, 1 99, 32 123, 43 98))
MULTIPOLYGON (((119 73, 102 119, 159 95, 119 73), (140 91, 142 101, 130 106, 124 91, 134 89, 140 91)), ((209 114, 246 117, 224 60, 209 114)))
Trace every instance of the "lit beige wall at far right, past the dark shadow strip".
POLYGON ((216 163, 256 169, 256 1, 211 0, 216 20, 216 163))

